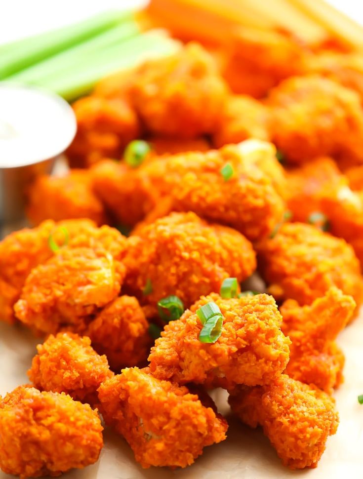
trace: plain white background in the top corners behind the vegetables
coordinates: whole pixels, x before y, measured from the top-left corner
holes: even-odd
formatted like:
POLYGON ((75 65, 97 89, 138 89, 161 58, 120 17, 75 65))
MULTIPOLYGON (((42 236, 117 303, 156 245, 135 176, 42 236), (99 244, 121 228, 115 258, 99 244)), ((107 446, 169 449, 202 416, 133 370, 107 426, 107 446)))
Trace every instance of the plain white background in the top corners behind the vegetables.
MULTIPOLYGON (((329 2, 363 24, 362 0, 329 2)), ((72 23, 102 10, 136 8, 146 3, 147 0, 0 0, 0 43, 72 23)))

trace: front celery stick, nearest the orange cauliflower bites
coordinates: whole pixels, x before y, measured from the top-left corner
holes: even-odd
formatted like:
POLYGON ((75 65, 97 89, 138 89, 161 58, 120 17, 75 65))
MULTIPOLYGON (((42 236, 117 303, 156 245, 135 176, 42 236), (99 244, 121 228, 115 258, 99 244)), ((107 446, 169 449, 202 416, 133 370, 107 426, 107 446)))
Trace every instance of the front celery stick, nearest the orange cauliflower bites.
POLYGON ((90 61, 80 63, 78 69, 66 72, 62 77, 39 83, 39 86, 72 101, 88 93, 103 77, 133 68, 146 59, 175 53, 180 46, 179 41, 149 32, 99 52, 90 61))

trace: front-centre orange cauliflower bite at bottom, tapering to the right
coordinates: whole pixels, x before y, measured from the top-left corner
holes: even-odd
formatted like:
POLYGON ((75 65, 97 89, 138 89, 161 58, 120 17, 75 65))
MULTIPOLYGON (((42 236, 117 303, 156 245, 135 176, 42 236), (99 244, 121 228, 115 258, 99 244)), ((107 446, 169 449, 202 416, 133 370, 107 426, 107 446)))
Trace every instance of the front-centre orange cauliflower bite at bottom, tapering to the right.
POLYGON ((185 387, 136 367, 99 388, 102 415, 129 443, 143 468, 186 467, 205 446, 226 439, 227 421, 185 387))

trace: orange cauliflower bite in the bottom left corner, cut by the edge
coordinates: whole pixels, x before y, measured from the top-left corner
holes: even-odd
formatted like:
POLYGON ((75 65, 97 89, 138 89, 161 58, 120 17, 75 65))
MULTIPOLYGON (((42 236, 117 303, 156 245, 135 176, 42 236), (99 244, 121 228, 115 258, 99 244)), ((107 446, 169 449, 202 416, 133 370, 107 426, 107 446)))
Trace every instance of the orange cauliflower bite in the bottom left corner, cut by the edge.
POLYGON ((21 479, 82 469, 98 460, 102 430, 88 404, 20 386, 0 397, 0 468, 21 479))

